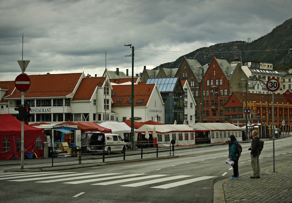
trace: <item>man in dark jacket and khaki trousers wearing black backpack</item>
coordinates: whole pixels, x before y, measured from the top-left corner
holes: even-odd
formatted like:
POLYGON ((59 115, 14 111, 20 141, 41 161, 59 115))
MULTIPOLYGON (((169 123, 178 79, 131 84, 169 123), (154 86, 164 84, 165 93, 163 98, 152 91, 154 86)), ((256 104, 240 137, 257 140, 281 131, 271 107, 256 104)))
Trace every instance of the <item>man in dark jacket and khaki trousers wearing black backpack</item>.
POLYGON ((253 168, 253 176, 251 176, 250 178, 260 178, 260 152, 258 151, 258 140, 260 138, 257 135, 258 131, 253 130, 251 132, 253 141, 251 142, 251 148, 249 148, 248 150, 251 150, 251 167, 253 168))

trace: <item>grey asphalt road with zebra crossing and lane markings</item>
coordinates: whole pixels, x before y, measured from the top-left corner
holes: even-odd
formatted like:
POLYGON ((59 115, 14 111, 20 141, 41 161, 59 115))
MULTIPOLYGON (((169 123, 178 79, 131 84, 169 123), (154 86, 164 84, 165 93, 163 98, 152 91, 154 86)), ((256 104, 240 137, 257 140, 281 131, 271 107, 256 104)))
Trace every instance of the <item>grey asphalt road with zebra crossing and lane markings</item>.
MULTIPOLYGON (((273 141, 264 141, 262 168, 273 166, 273 141)), ((275 164, 291 160, 291 145, 291 137, 275 140, 275 164)), ((238 181, 240 173, 252 171, 250 143, 242 147, 238 181)), ((227 145, 178 150, 175 155, 179 158, 42 174, 0 173, 1 202, 211 203, 213 184, 233 174, 232 167, 225 163, 227 145)))

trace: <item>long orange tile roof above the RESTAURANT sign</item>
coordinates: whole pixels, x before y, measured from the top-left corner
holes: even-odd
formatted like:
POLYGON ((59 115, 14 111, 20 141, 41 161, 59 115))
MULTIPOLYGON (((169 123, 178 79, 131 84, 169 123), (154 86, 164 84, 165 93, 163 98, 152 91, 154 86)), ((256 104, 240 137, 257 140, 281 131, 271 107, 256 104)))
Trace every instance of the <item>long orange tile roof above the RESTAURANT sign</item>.
MULTIPOLYGON (((29 92, 25 92, 25 98, 65 97, 73 93, 82 77, 84 73, 29 75, 30 87, 29 92)), ((9 84, 9 91, 14 87, 13 81, 13 87, 9 84)), ((4 99, 7 98, 21 98, 21 92, 15 89, 4 99)))

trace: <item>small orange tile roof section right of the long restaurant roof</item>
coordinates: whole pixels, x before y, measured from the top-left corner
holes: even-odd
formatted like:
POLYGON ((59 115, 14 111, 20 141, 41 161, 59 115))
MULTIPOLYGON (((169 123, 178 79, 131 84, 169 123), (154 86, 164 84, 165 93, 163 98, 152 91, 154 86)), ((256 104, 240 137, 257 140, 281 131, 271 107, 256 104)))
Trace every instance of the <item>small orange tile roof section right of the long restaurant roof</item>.
POLYGON ((83 78, 72 101, 90 100, 96 87, 101 87, 105 82, 105 77, 83 78))

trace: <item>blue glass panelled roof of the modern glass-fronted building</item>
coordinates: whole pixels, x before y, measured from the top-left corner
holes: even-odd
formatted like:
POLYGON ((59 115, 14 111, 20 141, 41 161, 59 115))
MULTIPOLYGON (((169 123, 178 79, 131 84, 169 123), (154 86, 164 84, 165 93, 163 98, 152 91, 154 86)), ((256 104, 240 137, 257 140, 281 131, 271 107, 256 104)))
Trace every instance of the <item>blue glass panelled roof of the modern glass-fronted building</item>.
POLYGON ((176 82, 177 77, 171 78, 151 78, 146 81, 146 84, 157 84, 160 92, 172 92, 176 82))

